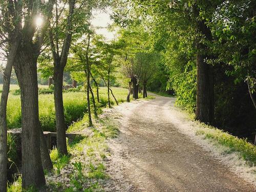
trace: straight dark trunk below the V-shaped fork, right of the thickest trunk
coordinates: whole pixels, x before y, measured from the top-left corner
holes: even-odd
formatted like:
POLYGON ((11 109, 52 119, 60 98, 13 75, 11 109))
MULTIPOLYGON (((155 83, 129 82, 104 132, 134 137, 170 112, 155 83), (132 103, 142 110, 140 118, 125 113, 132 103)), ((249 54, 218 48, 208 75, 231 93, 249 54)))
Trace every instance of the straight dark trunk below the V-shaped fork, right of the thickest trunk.
MULTIPOLYGON (((55 66, 57 66, 55 64, 55 66)), ((66 125, 63 107, 63 69, 54 67, 54 104, 55 104, 55 118, 56 118, 56 132, 57 132, 57 149, 61 154, 68 154, 66 142, 66 125)))

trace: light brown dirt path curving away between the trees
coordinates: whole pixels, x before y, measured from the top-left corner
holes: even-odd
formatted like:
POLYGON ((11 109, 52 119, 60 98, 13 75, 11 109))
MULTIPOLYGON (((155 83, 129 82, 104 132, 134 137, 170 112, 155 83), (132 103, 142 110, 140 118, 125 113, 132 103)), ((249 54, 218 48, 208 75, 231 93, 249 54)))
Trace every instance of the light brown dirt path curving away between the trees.
POLYGON ((154 96, 115 108, 120 135, 109 141, 106 191, 256 191, 179 131, 174 98, 154 96))

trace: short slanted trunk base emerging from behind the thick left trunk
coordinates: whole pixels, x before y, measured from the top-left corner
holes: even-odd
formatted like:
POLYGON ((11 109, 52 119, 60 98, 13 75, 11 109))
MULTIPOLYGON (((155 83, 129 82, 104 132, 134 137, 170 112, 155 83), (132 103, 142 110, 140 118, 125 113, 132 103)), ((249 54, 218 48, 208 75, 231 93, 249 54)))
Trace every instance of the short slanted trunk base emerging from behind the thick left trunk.
POLYGON ((44 132, 42 132, 40 124, 38 125, 38 127, 40 129, 40 152, 41 152, 42 168, 51 170, 53 166, 52 166, 49 150, 46 144, 46 138, 45 138, 44 132))

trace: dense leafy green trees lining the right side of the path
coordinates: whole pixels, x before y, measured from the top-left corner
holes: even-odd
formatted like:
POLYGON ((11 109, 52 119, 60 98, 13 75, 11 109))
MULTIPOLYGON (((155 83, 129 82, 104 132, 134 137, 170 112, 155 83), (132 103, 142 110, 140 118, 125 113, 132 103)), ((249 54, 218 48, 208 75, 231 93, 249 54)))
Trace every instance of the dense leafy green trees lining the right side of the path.
POLYGON ((202 122, 241 124, 247 136, 254 132, 255 1, 120 2, 115 21, 123 27, 143 26, 150 34, 151 49, 163 56, 167 88, 175 91, 177 103, 202 122))

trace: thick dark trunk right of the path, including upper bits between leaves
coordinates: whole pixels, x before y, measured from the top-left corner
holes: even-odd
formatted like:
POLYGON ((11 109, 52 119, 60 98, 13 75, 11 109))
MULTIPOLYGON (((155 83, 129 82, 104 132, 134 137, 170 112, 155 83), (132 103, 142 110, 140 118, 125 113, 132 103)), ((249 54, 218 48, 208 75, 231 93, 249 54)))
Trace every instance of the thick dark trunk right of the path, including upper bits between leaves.
MULTIPOLYGON (((193 6, 194 16, 198 17, 200 8, 193 6)), ((204 35, 204 40, 212 41, 212 35, 205 20, 197 20, 196 30, 204 35)), ((212 66, 206 63, 210 58, 208 46, 203 42, 197 43, 197 109, 196 119, 204 123, 214 122, 214 75, 212 66)))

